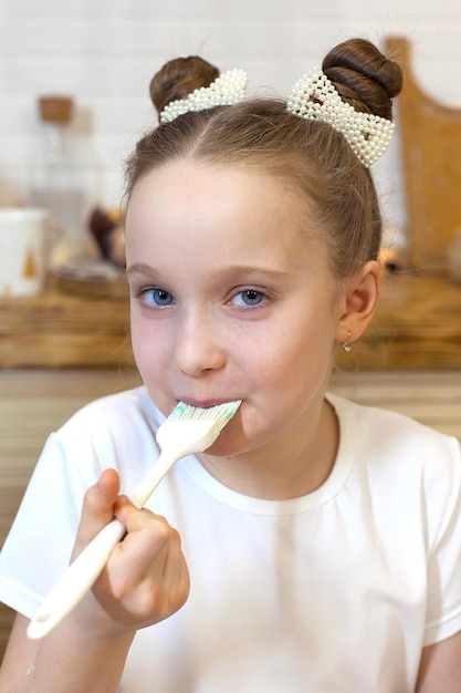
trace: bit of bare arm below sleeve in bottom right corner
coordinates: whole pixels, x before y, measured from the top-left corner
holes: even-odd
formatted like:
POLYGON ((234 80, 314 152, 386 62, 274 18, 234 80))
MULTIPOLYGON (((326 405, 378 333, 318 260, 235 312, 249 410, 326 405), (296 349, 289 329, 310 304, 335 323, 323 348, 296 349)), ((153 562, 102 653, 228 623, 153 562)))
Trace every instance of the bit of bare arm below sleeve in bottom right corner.
POLYGON ((416 693, 461 691, 461 632, 422 650, 416 693))

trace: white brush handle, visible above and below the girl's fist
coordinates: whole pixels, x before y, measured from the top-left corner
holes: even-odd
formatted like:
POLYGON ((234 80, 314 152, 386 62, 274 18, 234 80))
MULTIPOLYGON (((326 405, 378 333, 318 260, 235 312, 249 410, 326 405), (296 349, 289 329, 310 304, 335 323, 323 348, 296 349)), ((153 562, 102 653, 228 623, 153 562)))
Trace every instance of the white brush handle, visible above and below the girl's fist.
MULTIPOLYGON (((177 455, 161 453, 153 469, 130 496, 132 503, 138 508, 143 507, 177 459, 177 455)), ((29 638, 44 638, 76 607, 97 580, 114 547, 125 534, 124 525, 117 519, 101 529, 45 597, 29 623, 29 638)))

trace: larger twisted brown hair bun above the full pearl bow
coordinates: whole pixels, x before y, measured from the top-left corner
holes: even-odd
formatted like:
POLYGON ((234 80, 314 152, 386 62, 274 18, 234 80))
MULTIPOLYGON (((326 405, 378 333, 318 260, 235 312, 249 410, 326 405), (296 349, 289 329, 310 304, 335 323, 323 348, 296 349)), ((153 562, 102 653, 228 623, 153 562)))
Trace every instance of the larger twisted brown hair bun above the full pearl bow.
POLYGON ((357 111, 392 120, 392 99, 402 86, 400 66, 370 41, 350 39, 325 56, 322 70, 343 101, 357 111))

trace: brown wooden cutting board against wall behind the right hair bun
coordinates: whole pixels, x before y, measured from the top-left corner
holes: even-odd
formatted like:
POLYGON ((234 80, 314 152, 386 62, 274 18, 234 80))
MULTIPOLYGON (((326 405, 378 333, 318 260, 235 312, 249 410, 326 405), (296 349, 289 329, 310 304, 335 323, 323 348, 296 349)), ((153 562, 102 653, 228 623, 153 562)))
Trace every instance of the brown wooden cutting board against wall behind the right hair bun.
MULTIPOLYGON (((387 53, 404 72, 397 100, 401 128, 411 262, 444 268, 461 228, 461 108, 449 107, 418 84, 408 39, 389 37, 387 53)), ((453 80, 457 79, 453 72, 453 80)))

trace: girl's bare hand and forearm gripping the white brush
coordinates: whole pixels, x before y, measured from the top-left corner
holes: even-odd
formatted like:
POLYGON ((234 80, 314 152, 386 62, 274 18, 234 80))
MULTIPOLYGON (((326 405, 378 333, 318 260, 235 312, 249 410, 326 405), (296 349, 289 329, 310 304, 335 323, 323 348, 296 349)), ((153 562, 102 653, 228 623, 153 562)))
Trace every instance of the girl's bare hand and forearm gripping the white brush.
POLYGON ((93 590, 46 638, 30 641, 28 619, 17 617, 0 670, 1 693, 115 693, 136 631, 186 601, 189 576, 178 532, 117 494, 113 470, 87 492, 74 554, 114 514, 126 537, 93 590))

